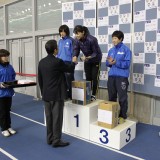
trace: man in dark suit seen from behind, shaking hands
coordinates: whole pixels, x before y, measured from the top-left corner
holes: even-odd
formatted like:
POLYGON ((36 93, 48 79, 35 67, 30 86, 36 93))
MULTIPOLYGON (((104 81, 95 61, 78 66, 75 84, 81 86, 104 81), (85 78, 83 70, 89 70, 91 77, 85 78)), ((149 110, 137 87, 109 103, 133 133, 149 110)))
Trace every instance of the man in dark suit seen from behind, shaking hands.
POLYGON ((65 64, 56 58, 57 41, 49 40, 45 49, 48 55, 38 65, 38 81, 45 104, 47 143, 53 147, 68 146, 69 142, 61 140, 64 100, 67 98, 65 72, 73 72, 75 64, 65 64))

